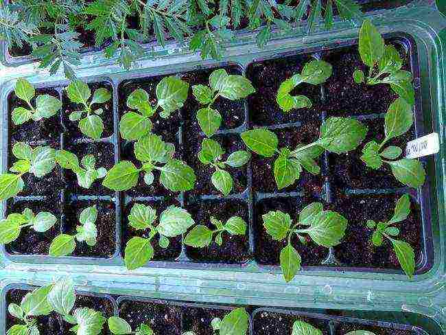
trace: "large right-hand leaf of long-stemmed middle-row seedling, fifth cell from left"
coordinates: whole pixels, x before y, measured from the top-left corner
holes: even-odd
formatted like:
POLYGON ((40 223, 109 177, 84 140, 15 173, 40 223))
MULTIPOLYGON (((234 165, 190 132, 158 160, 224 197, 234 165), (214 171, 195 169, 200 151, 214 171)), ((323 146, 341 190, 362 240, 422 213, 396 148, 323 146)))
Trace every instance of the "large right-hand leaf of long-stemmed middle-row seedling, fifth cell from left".
POLYGON ((342 154, 355 149, 364 140, 367 127, 349 117, 329 117, 320 127, 318 143, 323 148, 342 154))

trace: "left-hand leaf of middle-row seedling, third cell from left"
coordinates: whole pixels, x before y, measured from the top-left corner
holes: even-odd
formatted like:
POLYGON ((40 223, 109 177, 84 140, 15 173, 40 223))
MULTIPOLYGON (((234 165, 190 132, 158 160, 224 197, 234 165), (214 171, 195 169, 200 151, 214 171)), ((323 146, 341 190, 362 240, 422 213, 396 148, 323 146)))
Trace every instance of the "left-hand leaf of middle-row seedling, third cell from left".
POLYGON ((108 170, 102 185, 115 191, 126 191, 138 183, 139 169, 130 161, 120 161, 108 170))

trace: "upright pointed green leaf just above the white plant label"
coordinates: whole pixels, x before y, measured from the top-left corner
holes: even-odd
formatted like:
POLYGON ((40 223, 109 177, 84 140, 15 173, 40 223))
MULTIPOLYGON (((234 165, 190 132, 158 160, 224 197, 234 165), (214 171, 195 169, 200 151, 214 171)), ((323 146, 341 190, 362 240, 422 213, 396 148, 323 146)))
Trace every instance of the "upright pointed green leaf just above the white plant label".
POLYGON ((388 108, 384 121, 387 139, 403 135, 414 123, 412 107, 399 97, 388 108))

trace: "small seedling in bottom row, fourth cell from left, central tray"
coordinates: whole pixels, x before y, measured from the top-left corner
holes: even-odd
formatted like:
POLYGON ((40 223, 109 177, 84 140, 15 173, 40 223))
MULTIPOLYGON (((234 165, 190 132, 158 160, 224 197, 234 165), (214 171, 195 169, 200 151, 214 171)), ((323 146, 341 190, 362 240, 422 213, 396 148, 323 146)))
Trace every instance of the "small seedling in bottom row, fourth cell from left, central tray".
POLYGON ((204 248, 214 240, 216 244, 221 246, 223 243, 222 234, 225 231, 231 235, 245 235, 246 233, 246 222, 239 216, 232 216, 225 224, 211 216, 211 223, 215 226, 214 230, 209 229, 204 224, 193 227, 186 235, 185 244, 194 248, 204 248))

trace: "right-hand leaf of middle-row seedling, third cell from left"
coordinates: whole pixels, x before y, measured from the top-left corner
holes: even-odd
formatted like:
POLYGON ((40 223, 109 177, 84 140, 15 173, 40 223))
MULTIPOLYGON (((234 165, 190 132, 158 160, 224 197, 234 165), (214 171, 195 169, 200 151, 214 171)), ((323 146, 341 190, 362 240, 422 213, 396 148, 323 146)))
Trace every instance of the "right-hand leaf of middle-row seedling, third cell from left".
POLYGON ((189 165, 178 159, 171 159, 161 167, 160 181, 173 192, 189 191, 196 181, 195 172, 189 165))

